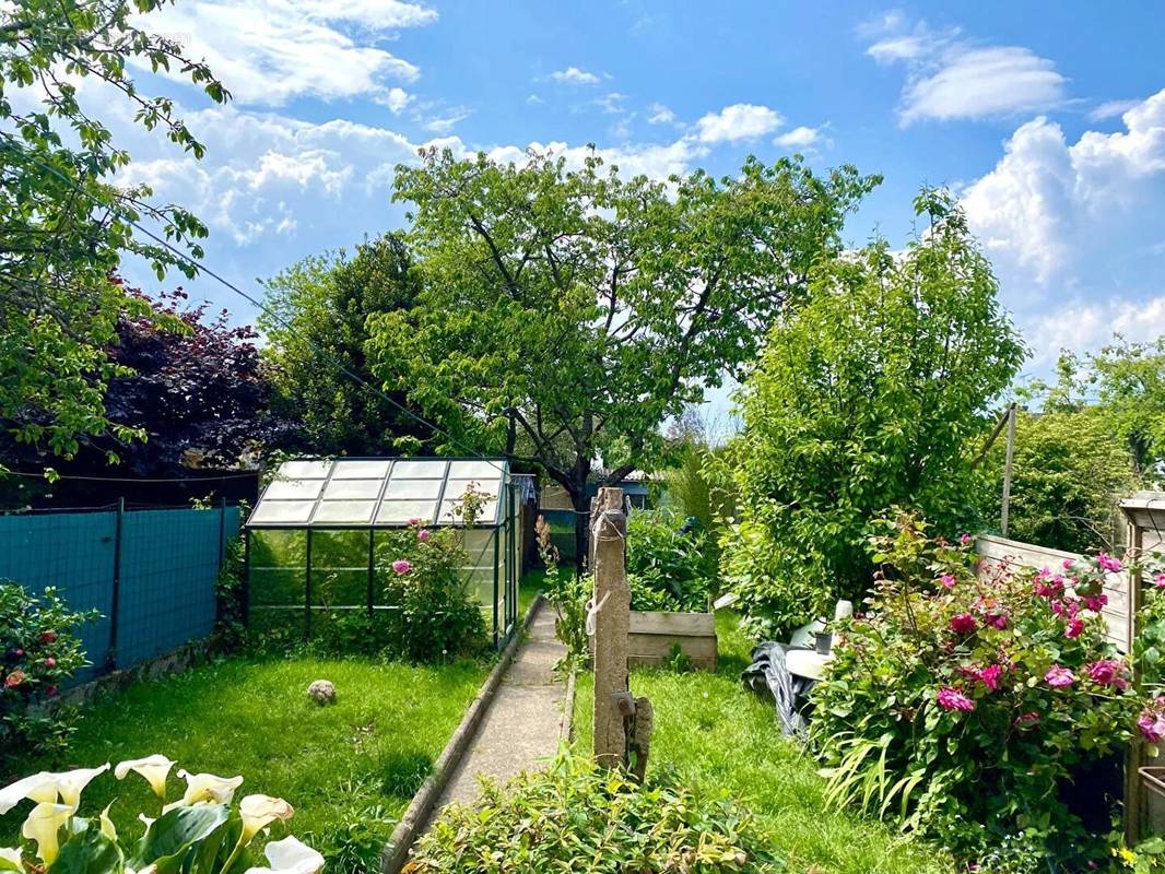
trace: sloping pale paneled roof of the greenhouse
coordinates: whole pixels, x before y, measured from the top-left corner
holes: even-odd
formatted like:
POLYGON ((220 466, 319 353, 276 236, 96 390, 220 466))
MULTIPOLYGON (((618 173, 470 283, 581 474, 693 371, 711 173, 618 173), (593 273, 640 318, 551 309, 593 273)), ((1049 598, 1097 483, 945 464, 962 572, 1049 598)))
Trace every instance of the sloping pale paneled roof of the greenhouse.
POLYGON ((403 528, 411 521, 460 524, 457 502, 485 493, 475 524, 502 521, 501 458, 338 458, 283 463, 248 528, 403 528))

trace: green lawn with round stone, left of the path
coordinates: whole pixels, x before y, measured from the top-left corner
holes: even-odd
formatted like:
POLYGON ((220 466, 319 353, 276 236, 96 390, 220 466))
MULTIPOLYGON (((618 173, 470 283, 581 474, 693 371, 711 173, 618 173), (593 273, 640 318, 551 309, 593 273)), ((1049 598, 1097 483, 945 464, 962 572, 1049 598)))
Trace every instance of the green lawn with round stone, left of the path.
MULTIPOLYGON (((185 785, 178 767, 241 774, 246 782, 236 799, 262 792, 285 798, 296 810, 271 837, 304 839, 325 852, 332 872, 373 871, 487 667, 232 658, 135 684, 94 705, 63 760, 29 761, 26 770, 163 753, 178 762, 170 776, 171 799, 185 785), (320 678, 336 684, 334 706, 305 698, 308 684, 320 678)), ((119 830, 140 833, 136 815, 157 816, 156 797, 133 774, 123 783, 110 774, 98 777, 85 790, 83 812, 96 813, 114 798, 119 830)), ((17 833, 23 816, 22 805, 0 818, 0 836, 17 833)))

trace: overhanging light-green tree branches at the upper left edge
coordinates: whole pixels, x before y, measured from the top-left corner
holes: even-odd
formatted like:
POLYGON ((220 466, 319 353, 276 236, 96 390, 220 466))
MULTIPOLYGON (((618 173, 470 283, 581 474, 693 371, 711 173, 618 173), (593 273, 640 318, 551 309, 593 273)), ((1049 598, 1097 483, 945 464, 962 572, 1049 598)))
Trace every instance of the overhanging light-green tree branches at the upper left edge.
MULTIPOLYGON (((120 92, 147 129, 202 156, 174 104, 141 93, 133 65, 174 70, 216 101, 223 85, 172 40, 148 34, 140 14, 168 0, 21 0, 0 6, 0 418, 24 443, 58 454, 79 435, 111 427, 103 403, 118 373, 106 353, 123 312, 148 304, 110 277, 126 253, 158 275, 177 255, 135 237, 144 220, 161 238, 200 255, 206 228, 189 212, 155 204, 144 185, 112 179, 129 162, 110 129, 80 103, 82 79, 120 92)), ((113 427, 121 438, 132 436, 113 427)))

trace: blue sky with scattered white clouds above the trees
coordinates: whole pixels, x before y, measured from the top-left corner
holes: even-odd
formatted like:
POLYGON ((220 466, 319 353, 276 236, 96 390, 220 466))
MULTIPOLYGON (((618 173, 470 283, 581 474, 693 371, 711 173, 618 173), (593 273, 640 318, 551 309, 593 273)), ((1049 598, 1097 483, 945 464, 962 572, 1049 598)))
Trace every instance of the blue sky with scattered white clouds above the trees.
MULTIPOLYGON (((1061 346, 1165 330, 1165 12, 1156 3, 178 0, 150 27, 205 56, 226 108, 172 92, 195 162, 135 132, 128 178, 195 210, 207 262, 255 288, 400 226, 418 146, 718 174, 803 151, 885 183, 849 225, 892 244, 924 183, 952 186, 1045 369, 1061 346)), ((129 277, 151 286, 142 272, 129 277)), ((177 281, 177 280, 175 280, 177 281)), ((196 296, 249 306, 209 280, 196 296)))

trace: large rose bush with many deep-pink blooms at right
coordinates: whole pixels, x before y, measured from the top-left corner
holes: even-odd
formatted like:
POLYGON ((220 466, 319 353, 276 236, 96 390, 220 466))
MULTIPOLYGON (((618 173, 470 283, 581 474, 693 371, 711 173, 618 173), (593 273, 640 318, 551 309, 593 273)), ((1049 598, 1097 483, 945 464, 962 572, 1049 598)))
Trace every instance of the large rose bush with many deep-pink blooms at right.
POLYGON ((880 524, 869 612, 840 623, 811 738, 835 803, 941 840, 991 871, 1079 871, 1106 857, 1060 792, 1130 739, 1138 695, 1104 641, 1104 565, 996 570, 969 538, 880 524), (1046 865, 1037 865, 1046 860, 1046 865))

